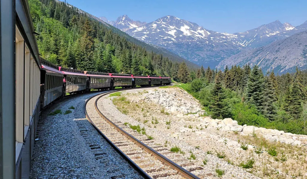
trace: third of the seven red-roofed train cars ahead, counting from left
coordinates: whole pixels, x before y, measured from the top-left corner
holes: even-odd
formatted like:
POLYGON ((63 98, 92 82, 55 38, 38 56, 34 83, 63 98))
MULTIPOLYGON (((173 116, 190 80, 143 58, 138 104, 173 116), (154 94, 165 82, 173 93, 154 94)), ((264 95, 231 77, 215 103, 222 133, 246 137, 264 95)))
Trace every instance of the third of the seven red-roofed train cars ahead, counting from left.
POLYGON ((111 88, 111 73, 87 72, 87 88, 90 89, 109 89, 111 88))

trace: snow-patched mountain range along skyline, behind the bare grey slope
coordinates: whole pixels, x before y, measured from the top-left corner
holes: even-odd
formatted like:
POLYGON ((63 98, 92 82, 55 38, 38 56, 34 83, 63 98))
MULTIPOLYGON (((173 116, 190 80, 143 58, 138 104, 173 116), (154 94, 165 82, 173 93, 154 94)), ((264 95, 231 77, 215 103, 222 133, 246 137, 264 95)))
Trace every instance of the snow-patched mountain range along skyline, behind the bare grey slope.
MULTIPOLYGON (((132 21, 126 15, 119 17, 116 22, 107 19, 104 19, 104 21, 136 39, 165 48, 195 64, 212 68, 223 68, 224 63, 235 64, 237 60, 233 59, 237 57, 234 56, 236 54, 252 54, 255 51, 254 48, 271 44, 307 30, 307 21, 294 27, 287 22, 282 24, 277 20, 255 29, 234 34, 208 30, 196 23, 171 15, 143 25, 136 23, 137 21, 132 21), (227 63, 223 61, 225 59, 227 59, 227 63), (233 62, 230 63, 228 59, 232 59, 233 62)), ((287 42, 289 43, 289 41, 287 42)), ((291 49, 295 49, 295 45, 291 49)), ((291 71, 290 68, 293 68, 293 64, 297 64, 291 60, 288 59, 283 62, 282 60, 275 60, 274 67, 266 66, 269 64, 265 63, 262 68, 274 68, 277 72, 291 71), (278 71, 279 69, 280 71, 278 71)), ((244 60, 242 63, 247 62, 254 64, 254 62, 248 60, 244 60)), ((302 67, 304 64, 299 63, 299 65, 302 67)))

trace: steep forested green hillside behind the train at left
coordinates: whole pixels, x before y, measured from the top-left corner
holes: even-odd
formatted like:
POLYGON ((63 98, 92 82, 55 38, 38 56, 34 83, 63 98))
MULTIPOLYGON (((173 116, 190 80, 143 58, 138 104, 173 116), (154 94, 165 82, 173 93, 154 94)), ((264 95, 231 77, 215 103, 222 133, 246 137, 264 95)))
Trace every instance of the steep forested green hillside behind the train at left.
MULTIPOLYGON (((179 62, 149 52, 65 2, 29 0, 41 56, 54 64, 93 72, 172 76, 179 62)), ((140 45, 141 44, 141 45, 140 45)), ((147 47, 147 46, 146 46, 147 47)), ((148 48, 148 47, 147 47, 148 48)))

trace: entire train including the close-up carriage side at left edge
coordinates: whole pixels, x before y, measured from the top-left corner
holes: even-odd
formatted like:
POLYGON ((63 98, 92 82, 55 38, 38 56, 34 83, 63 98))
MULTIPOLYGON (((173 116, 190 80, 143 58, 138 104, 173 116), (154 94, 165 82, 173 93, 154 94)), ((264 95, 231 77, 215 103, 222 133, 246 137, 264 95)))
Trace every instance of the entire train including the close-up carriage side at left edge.
POLYGON ((0 178, 29 178, 42 109, 67 94, 170 84, 167 76, 88 72, 41 58, 28 0, 0 1, 0 178))

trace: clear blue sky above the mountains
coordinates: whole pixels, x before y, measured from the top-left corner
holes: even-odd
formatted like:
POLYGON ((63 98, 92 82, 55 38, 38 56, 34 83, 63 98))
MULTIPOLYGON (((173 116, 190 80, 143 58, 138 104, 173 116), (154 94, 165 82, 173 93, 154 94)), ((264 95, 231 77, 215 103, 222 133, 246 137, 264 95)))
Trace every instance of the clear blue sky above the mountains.
POLYGON ((307 21, 307 0, 68 0, 97 17, 127 14, 152 22, 173 15, 217 32, 243 32, 275 20, 297 26, 307 21))

